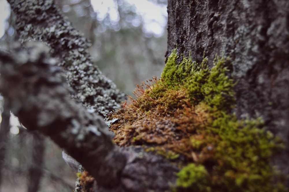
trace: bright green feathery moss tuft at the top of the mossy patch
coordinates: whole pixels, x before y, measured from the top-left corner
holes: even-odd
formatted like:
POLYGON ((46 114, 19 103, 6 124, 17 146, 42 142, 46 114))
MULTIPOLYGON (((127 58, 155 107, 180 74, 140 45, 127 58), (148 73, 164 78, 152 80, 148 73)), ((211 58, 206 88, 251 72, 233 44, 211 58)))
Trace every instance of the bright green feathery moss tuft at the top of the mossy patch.
POLYGON ((235 95, 234 82, 226 75, 229 58, 216 56, 212 69, 208 68, 208 58, 203 58, 201 64, 191 58, 183 58, 181 63, 176 64, 177 58, 176 51, 173 51, 161 75, 166 85, 173 90, 184 86, 194 105, 204 101, 213 110, 231 108, 235 95))

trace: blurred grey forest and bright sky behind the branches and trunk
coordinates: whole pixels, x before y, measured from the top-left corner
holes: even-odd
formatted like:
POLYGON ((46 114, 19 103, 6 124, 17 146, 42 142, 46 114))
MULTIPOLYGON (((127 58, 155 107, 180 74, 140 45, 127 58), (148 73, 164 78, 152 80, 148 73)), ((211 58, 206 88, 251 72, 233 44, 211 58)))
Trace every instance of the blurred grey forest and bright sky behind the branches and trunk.
MULTIPOLYGON (((92 44, 93 62, 126 94, 159 77, 167 48, 167 0, 54 0, 92 44)), ((15 17, 0 0, 0 49, 17 40, 15 17)), ((76 174, 61 149, 27 132, 0 96, 0 191, 73 191, 76 174)))

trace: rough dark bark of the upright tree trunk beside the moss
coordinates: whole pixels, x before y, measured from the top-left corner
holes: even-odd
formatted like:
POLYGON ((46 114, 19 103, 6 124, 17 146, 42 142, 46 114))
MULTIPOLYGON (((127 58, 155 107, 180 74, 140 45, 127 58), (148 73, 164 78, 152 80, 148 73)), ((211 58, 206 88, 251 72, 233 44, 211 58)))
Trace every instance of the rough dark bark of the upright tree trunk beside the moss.
POLYGON ((262 116, 286 141, 273 163, 289 173, 289 1, 168 1, 168 52, 230 56, 239 118, 262 116))

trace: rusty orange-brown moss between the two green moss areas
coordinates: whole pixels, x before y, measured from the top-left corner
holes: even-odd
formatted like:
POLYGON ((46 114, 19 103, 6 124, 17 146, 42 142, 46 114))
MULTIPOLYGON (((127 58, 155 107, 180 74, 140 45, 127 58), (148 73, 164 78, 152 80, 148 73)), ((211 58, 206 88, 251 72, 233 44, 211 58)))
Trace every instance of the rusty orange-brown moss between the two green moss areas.
POLYGON ((158 146, 159 149, 168 149, 192 160, 194 150, 190 137, 197 134, 197 128, 205 126, 210 119, 206 106, 192 106, 186 97, 188 93, 185 88, 152 98, 144 91, 144 86, 150 89, 152 85, 138 86, 135 92, 138 100, 130 98, 129 104, 111 116, 111 119, 118 118, 118 123, 111 126, 116 133, 115 143, 120 146, 143 145, 147 148, 158 146), (143 99, 149 99, 154 106, 140 107, 138 102, 143 99))

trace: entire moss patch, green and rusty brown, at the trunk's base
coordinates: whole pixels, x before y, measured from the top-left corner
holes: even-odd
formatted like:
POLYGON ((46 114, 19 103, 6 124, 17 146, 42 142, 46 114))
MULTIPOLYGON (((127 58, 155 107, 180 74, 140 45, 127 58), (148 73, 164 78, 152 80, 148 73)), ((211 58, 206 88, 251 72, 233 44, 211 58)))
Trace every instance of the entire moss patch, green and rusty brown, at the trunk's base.
POLYGON ((264 131, 261 118, 237 119, 229 58, 177 63, 174 50, 158 80, 137 86, 129 103, 112 114, 120 146, 142 145, 177 162, 175 191, 286 191, 270 165, 283 144, 264 131), (145 88, 144 88, 145 87, 145 88))

